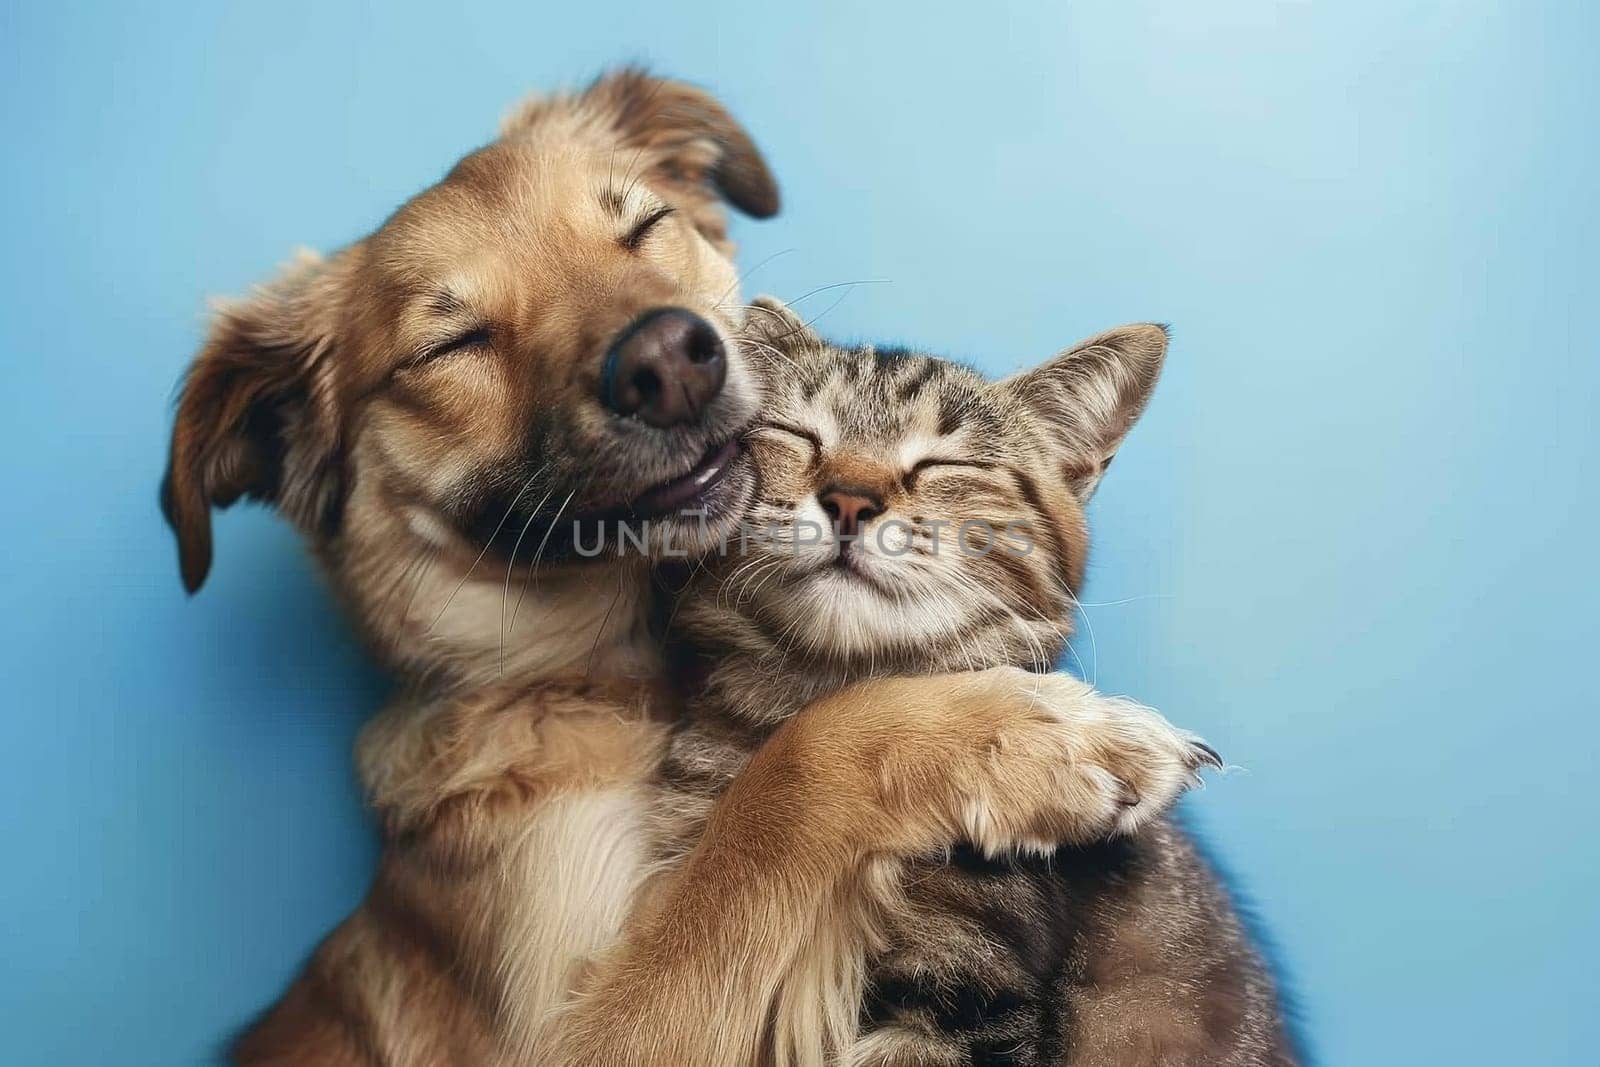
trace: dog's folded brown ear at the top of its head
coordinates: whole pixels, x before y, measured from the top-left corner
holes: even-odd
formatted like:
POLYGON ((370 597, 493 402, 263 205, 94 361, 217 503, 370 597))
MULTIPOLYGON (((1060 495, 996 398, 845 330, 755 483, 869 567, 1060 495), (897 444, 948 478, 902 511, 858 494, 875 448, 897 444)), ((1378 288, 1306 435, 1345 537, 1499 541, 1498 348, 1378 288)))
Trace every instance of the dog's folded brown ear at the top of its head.
POLYGON ((534 98, 502 125, 506 136, 576 117, 616 138, 618 181, 643 176, 712 243, 726 248, 722 203, 757 219, 778 214, 778 182, 755 141, 710 93, 624 67, 578 96, 534 98))

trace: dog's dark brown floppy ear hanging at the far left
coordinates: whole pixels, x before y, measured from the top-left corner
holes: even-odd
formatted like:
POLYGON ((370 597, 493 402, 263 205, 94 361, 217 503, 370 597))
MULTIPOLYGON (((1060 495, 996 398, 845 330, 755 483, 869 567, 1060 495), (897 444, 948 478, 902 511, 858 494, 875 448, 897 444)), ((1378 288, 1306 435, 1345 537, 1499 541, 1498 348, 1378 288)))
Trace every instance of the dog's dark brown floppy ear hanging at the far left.
POLYGON ((190 593, 211 569, 213 507, 266 501, 312 528, 338 506, 333 288, 330 266, 306 258, 251 298, 219 306, 184 378, 162 510, 190 593))

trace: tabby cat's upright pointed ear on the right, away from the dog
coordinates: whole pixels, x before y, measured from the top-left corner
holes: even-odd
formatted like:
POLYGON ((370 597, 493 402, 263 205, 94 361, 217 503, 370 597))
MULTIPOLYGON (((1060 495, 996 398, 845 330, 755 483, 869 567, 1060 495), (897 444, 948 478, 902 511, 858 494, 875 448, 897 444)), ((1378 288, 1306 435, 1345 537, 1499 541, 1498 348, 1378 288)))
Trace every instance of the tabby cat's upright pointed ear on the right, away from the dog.
POLYGON ((1166 326, 1117 326, 1005 379, 1000 389, 1043 419, 1062 450, 1072 493, 1088 501, 1149 403, 1165 358, 1166 326))

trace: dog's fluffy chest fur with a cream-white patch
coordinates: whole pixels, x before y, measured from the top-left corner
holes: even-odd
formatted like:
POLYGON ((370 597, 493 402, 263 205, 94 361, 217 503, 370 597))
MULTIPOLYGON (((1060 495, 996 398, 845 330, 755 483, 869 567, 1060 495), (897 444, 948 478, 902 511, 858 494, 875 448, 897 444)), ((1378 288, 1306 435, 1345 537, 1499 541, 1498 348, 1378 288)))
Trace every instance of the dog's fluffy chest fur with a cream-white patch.
POLYGON ((491 1021, 501 1062, 534 1062, 582 961, 614 942, 651 870, 666 737, 653 696, 502 688, 398 704, 362 736, 363 782, 394 843, 373 897, 459 947, 442 963, 469 971, 458 984, 491 1021))

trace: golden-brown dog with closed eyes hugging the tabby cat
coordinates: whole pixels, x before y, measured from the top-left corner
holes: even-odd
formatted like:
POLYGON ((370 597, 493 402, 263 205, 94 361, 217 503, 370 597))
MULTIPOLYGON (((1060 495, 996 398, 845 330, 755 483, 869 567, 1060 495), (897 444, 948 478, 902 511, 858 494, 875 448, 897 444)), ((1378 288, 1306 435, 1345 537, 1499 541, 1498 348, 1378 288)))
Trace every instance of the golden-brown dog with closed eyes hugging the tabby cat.
POLYGON ((400 681, 357 750, 373 888, 238 1062, 749 1062, 880 859, 1066 817, 1082 725, 1029 678, 888 680, 797 715, 686 862, 648 862, 675 712, 650 555, 754 494, 725 211, 778 203, 726 109, 629 69, 530 101, 373 234, 218 310, 162 491, 182 581, 213 509, 269 504, 400 681), (650 552, 573 552, 619 517, 653 520, 650 552))

